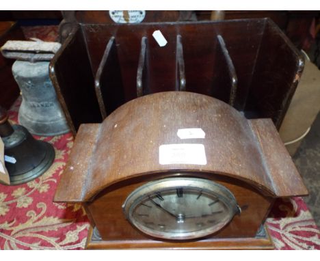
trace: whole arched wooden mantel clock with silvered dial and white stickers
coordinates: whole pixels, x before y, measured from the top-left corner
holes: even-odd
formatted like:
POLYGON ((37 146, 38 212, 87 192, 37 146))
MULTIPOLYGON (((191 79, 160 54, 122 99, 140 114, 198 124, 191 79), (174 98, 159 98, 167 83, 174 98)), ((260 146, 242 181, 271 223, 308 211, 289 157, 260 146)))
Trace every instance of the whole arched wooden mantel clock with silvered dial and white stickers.
POLYGON ((55 201, 83 204, 88 249, 270 249, 274 200, 307 193, 270 119, 160 92, 80 126, 55 201))

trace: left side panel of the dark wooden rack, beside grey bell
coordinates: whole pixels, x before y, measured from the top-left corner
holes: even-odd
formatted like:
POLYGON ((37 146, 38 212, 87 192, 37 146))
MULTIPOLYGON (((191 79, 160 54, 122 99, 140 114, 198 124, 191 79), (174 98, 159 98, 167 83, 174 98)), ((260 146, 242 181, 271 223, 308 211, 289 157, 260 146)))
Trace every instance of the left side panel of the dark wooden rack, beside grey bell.
POLYGON ((74 27, 51 60, 49 72, 74 135, 82 123, 101 122, 101 112, 94 92, 94 74, 82 31, 78 27, 74 27))

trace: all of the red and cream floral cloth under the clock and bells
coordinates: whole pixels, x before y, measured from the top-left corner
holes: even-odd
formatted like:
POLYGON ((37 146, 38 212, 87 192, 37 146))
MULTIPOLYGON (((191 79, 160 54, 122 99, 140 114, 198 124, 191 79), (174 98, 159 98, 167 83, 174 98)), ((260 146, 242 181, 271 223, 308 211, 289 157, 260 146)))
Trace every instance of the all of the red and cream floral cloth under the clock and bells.
MULTIPOLYGON (((55 40, 57 27, 24 28, 27 37, 55 40)), ((9 112, 18 118, 17 100, 9 112)), ((53 195, 73 145, 72 135, 36 137, 55 148, 45 174, 27 184, 0 184, 0 249, 83 249, 88 218, 79 204, 57 204, 53 195)), ((320 232, 301 197, 278 200, 267 219, 276 249, 320 249, 320 232)))

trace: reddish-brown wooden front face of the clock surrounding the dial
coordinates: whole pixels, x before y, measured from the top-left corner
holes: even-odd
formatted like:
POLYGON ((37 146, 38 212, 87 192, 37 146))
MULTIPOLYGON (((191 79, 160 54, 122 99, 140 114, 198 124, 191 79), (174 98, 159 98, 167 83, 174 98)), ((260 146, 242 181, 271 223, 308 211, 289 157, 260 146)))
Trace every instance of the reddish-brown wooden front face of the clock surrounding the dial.
MULTIPOLYGON (((150 238, 139 232, 127 221, 122 211, 122 204, 126 197, 137 187, 146 184, 150 180, 176 176, 175 174, 162 174, 161 176, 149 176, 121 182, 117 186, 109 187, 97 195, 92 202, 87 202, 88 212, 94 219, 94 225, 98 228, 103 240, 132 240, 134 238, 150 238)), ((181 176, 207 178, 222 184, 229 189, 241 208, 241 214, 235 215, 232 221, 219 232, 209 238, 228 237, 254 237, 265 221, 269 206, 274 202, 271 197, 261 195, 254 188, 244 182, 239 182, 228 177, 191 173, 181 176)))

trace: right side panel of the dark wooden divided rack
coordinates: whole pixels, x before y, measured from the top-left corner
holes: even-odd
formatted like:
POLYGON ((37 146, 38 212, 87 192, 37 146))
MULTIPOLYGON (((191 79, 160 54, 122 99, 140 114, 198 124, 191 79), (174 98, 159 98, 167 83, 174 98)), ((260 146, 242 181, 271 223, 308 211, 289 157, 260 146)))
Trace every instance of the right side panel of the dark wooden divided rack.
POLYGON ((303 68, 302 55, 273 22, 267 23, 245 106, 248 117, 253 112, 254 118, 272 118, 280 128, 303 68))

